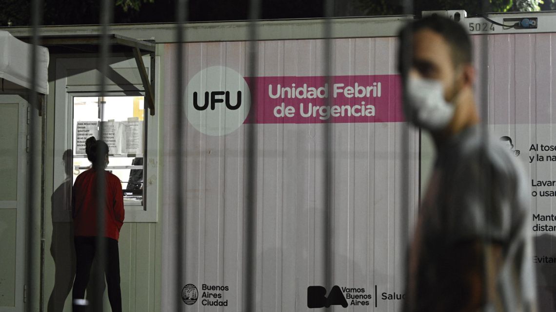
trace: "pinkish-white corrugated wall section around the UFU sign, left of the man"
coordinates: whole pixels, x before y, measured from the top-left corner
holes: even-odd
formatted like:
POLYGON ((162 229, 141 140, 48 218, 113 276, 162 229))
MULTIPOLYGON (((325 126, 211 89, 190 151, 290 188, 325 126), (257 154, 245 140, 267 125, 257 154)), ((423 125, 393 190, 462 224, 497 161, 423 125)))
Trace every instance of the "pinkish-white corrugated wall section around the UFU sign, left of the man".
MULTIPOLYGON (((334 39, 331 76, 395 74, 395 38, 334 39)), ((185 82, 210 66, 232 68, 245 77, 248 66, 245 42, 185 44, 185 82)), ((202 285, 228 286, 220 291, 227 300, 224 311, 244 310, 241 303, 242 248, 245 227, 246 130, 256 131, 256 310, 301 311, 307 308, 307 286, 332 285, 365 288, 372 294, 370 307, 350 310, 398 310, 401 300, 382 300, 380 294, 403 293, 406 240, 401 237, 402 212, 411 213, 418 202, 418 133, 410 146, 401 146, 400 122, 331 123, 330 224, 325 220, 326 124, 244 124, 227 135, 205 135, 187 122, 176 133, 175 113, 177 49, 165 46, 165 190, 163 193, 162 301, 176 310, 178 270, 185 270, 182 285, 198 289, 196 305, 186 310, 216 311, 204 306, 202 285), (182 150, 176 150, 177 140, 182 150), (409 172, 401 172, 403 152, 409 153, 409 172), (177 154, 183 172, 176 172, 177 154), (176 189, 176 175, 183 189, 176 189), (409 194, 401 194, 401 178, 410 181, 409 194), (182 193, 183 202, 175 201, 182 193), (410 207, 401 207, 407 195, 410 207), (173 220, 185 212, 185 224, 173 220), (185 235, 178 246, 176 233, 185 235), (325 254, 326 233, 331 254, 325 254), (403 242, 403 243, 401 243, 403 242), (176 253, 185 248, 185 263, 176 253), (326 257, 331 267, 326 268, 326 257), (185 268, 184 268, 185 267, 185 268), (326 285, 327 277, 331 285, 326 285), (375 285, 379 299, 375 306, 375 285)), ((326 76, 325 41, 267 41, 257 43, 257 77, 326 76)), ((393 84, 394 85, 394 84, 393 84)), ((399 86, 396 86, 396 88, 399 86)), ((393 87, 394 88, 394 87, 393 87)), ((393 90, 390 101, 396 102, 393 90)), ((399 100, 397 100, 399 104, 399 100)), ((252 105, 256 105, 253 103, 252 105)), ((394 105, 388 109, 394 110, 394 105)), ((350 300, 348 300, 350 301, 350 300)), ((184 305, 185 306, 185 305, 184 305)), ((219 309, 220 310, 220 309, 219 309)))

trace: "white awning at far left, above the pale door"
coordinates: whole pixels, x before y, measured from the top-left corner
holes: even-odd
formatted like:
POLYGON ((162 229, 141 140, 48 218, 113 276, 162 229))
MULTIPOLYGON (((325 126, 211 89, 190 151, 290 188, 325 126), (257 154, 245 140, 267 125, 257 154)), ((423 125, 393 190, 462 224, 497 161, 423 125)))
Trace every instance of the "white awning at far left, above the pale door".
MULTIPOLYGON (((33 46, 0 31, 0 79, 32 89, 31 56, 33 46)), ((38 46, 36 91, 48 94, 48 49, 38 46)))

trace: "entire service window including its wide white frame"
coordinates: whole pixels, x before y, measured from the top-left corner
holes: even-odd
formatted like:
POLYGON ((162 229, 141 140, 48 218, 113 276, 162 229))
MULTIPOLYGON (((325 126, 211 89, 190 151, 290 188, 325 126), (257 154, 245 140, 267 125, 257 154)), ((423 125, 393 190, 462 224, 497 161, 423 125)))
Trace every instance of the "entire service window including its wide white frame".
MULTIPOLYGON (((158 63, 157 57, 151 63, 147 62, 150 56, 143 58, 145 64, 158 63)), ((150 113, 136 60, 109 58, 104 93, 98 83, 101 73, 96 58, 54 60, 54 189, 63 183, 73 184, 78 174, 90 168, 85 141, 93 135, 110 147, 107 170, 120 178, 125 222, 157 222, 159 117, 150 113)), ((156 71, 147 67, 146 73, 150 78, 156 71)), ((54 222, 71 220, 71 211, 59 208, 67 205, 54 206, 54 222)))

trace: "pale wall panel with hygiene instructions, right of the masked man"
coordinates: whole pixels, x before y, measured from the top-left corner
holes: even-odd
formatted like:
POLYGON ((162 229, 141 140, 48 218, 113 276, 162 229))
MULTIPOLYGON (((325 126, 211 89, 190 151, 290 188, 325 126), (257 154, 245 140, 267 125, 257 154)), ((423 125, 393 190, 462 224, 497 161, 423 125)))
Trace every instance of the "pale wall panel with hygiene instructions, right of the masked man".
POLYGON ((481 59, 484 41, 474 36, 475 62, 488 64, 488 82, 479 79, 477 85, 479 91, 488 85, 488 103, 481 103, 482 117, 491 134, 523 164, 539 310, 547 312, 556 307, 554 39, 549 33, 490 35, 488 59, 481 59))

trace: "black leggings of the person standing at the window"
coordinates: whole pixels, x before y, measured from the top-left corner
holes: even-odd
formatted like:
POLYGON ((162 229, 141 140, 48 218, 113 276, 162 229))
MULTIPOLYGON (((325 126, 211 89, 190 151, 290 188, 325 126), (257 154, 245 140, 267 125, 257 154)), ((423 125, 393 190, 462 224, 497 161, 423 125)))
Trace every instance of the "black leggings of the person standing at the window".
MULTIPOLYGON (((95 258, 96 241, 94 236, 75 236, 76 272, 73 281, 72 299, 84 299, 85 289, 89 283, 91 265, 95 258)), ((106 238, 106 284, 108 300, 112 312, 122 311, 122 293, 120 290, 120 253, 118 241, 106 238)))

